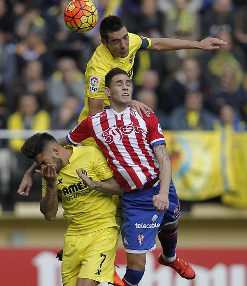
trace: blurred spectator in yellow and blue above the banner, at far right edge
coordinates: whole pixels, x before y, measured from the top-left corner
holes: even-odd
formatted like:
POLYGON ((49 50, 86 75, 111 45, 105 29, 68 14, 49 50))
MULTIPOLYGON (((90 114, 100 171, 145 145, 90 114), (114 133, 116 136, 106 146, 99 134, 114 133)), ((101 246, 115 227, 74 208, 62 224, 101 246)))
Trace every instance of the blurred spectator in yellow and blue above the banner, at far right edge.
POLYGON ((243 132, 247 130, 246 123, 237 118, 234 109, 230 105, 222 105, 219 115, 219 120, 214 122, 215 130, 235 132, 243 132))

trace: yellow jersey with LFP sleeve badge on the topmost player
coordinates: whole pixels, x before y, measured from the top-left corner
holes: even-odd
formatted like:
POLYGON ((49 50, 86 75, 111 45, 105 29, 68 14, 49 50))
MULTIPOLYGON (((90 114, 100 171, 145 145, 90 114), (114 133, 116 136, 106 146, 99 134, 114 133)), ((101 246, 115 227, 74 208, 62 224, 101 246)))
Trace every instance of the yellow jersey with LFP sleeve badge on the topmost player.
MULTIPOLYGON (((88 98, 103 99, 104 107, 109 106, 109 99, 105 95, 105 76, 113 68, 118 67, 125 70, 129 77, 133 76, 133 65, 135 54, 139 49, 147 49, 151 45, 151 40, 140 37, 136 34, 129 35, 129 54, 125 58, 114 58, 108 48, 101 44, 97 47, 91 59, 87 63, 85 72, 85 106, 79 116, 79 122, 86 119, 89 115, 88 98)), ((83 141, 84 145, 94 145, 93 138, 83 141)))

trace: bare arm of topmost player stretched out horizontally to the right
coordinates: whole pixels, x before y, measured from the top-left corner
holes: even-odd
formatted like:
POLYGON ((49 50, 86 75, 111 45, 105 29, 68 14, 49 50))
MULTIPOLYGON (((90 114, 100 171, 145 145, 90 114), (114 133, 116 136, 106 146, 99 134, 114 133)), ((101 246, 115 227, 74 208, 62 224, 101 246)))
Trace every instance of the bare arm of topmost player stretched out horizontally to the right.
POLYGON ((202 49, 205 51, 217 50, 221 46, 227 45, 227 42, 218 38, 205 38, 200 41, 181 40, 171 38, 151 39, 149 50, 169 51, 181 49, 202 49))

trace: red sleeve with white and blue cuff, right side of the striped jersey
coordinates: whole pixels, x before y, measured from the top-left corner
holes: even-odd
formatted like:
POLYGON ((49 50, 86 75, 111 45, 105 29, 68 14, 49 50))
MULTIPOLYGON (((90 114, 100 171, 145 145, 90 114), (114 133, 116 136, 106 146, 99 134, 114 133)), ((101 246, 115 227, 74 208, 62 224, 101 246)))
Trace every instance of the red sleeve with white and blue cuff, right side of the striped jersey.
POLYGON ((144 115, 144 120, 147 124, 148 136, 152 148, 154 148, 156 145, 166 145, 161 125, 156 115, 153 113, 150 113, 150 117, 146 117, 144 115))

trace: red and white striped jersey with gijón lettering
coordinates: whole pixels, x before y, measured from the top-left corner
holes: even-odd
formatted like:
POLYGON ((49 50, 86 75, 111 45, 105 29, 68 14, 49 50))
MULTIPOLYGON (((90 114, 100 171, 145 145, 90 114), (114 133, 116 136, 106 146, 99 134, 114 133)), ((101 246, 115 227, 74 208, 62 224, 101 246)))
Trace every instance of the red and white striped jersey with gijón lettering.
POLYGON ((159 164, 153 147, 165 144, 157 117, 144 119, 131 107, 121 113, 109 108, 89 116, 66 139, 78 144, 93 137, 108 160, 114 176, 126 192, 142 189, 159 178, 159 164))

